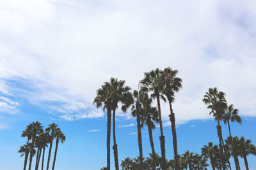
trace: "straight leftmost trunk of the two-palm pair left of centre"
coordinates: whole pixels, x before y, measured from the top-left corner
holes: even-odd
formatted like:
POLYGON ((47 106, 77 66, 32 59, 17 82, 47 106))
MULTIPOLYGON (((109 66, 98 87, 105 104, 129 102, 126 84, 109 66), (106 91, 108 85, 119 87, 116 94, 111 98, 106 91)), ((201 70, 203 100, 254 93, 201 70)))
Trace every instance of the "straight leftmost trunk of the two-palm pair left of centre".
POLYGON ((110 170, 111 108, 108 108, 107 117, 107 169, 110 170))

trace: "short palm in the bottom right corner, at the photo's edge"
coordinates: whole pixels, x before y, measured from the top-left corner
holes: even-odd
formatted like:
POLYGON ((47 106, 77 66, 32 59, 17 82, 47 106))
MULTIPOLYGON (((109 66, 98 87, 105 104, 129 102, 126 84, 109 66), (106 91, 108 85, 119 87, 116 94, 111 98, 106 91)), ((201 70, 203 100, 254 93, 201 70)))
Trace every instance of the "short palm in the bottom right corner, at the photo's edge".
POLYGON ((252 141, 250 139, 245 140, 242 136, 239 139, 238 150, 239 155, 244 159, 246 170, 249 170, 247 155, 256 155, 256 147, 252 145, 252 141))

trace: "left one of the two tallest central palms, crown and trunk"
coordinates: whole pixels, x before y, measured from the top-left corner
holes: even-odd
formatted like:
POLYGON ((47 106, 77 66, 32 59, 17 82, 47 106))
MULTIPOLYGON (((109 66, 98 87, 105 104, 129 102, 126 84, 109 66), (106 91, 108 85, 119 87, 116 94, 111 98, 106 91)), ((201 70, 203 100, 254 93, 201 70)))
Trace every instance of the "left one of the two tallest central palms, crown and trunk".
POLYGON ((162 155, 162 164, 161 167, 163 170, 166 170, 166 156, 165 156, 165 141, 164 141, 164 133, 163 133, 163 123, 162 123, 162 116, 161 116, 161 105, 160 105, 160 98, 163 99, 165 102, 166 99, 163 96, 164 90, 164 77, 161 76, 163 71, 159 70, 152 70, 149 73, 144 73, 143 80, 140 81, 140 84, 143 87, 147 88, 147 92, 152 92, 151 96, 153 99, 157 99, 157 109, 159 115, 159 125, 160 125, 160 145, 161 145, 161 155, 162 155))

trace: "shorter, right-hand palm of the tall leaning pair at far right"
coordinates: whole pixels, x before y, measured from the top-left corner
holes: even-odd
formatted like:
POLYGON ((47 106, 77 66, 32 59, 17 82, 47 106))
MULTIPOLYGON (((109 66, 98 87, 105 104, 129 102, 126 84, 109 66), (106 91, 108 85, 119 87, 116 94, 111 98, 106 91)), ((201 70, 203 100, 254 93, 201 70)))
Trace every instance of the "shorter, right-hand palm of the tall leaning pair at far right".
MULTIPOLYGON (((232 135, 231 135, 231 131, 230 131, 229 121, 231 121, 231 122, 236 121, 239 124, 242 123, 242 119, 238 115, 238 110, 234 109, 233 104, 231 104, 230 106, 227 107, 227 110, 225 111, 225 114, 223 115, 224 124, 228 124, 228 131, 229 131, 230 139, 233 139, 232 135)), ((239 160, 238 160, 238 157, 237 157, 236 148, 234 147, 233 141, 231 141, 231 151, 232 151, 232 155, 234 157, 234 162, 236 164, 236 169, 240 170, 239 160)))

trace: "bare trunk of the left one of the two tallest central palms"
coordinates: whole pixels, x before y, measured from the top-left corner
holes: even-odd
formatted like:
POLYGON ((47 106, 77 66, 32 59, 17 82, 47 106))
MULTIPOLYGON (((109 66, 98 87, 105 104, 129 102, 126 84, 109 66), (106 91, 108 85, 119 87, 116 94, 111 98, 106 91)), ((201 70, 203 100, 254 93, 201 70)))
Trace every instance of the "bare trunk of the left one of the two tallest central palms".
POLYGON ((162 170, 166 170, 166 157, 165 157, 165 141, 164 141, 164 133, 163 133, 163 123, 162 123, 162 117, 161 117, 161 106, 160 106, 160 99, 159 99, 159 94, 156 93, 156 98, 157 98, 157 108, 158 108, 158 115, 159 115, 159 124, 160 124, 160 146, 161 146, 161 160, 162 160, 162 170))

